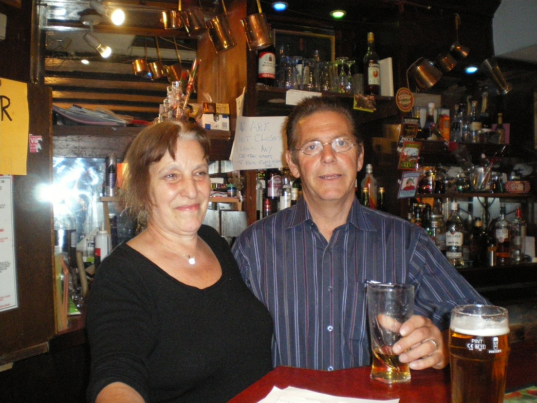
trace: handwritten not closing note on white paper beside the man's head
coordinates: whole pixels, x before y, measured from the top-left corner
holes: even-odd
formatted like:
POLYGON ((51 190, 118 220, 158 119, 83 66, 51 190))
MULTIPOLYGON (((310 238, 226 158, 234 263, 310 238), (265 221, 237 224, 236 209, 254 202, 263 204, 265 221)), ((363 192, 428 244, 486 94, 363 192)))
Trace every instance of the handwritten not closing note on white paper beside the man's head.
POLYGON ((286 167, 285 116, 237 116, 230 160, 233 169, 286 167))

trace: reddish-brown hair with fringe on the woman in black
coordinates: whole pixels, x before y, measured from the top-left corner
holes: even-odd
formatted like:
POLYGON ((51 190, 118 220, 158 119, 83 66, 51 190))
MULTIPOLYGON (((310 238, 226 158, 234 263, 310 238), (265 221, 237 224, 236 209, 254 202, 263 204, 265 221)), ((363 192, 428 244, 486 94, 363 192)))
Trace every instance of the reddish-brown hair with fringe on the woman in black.
POLYGON ((140 224, 146 224, 149 197, 149 167, 169 153, 175 159, 177 140, 198 141, 204 150, 204 157, 209 160, 211 142, 204 128, 180 121, 165 121, 144 128, 133 140, 125 162, 127 169, 123 178, 126 205, 140 224))

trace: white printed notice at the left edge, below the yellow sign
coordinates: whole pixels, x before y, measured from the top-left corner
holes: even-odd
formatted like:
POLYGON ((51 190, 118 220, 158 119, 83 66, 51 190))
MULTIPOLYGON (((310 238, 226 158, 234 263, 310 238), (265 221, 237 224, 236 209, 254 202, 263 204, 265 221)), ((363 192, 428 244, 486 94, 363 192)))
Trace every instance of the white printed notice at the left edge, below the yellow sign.
POLYGON ((13 228, 12 178, 0 175, 0 312, 18 307, 13 228))

